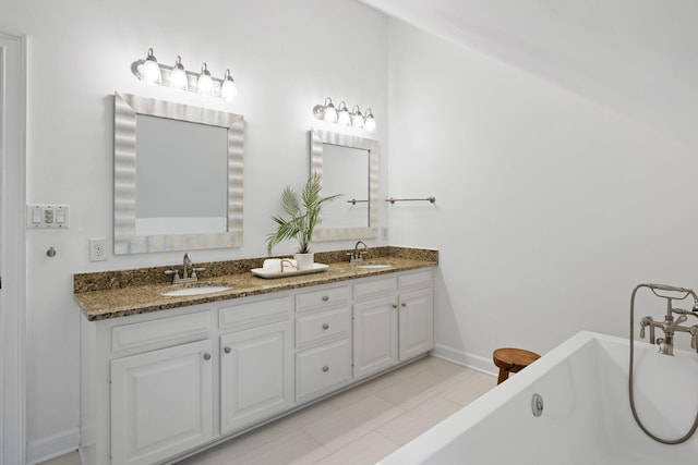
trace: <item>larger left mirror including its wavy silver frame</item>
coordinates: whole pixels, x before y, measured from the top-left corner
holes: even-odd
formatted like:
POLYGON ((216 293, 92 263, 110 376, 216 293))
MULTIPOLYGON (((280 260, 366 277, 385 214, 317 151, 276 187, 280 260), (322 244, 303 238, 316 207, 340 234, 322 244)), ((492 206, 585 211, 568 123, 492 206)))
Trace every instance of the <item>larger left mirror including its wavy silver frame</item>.
POLYGON ((242 115, 115 94, 115 254, 242 245, 242 115))

